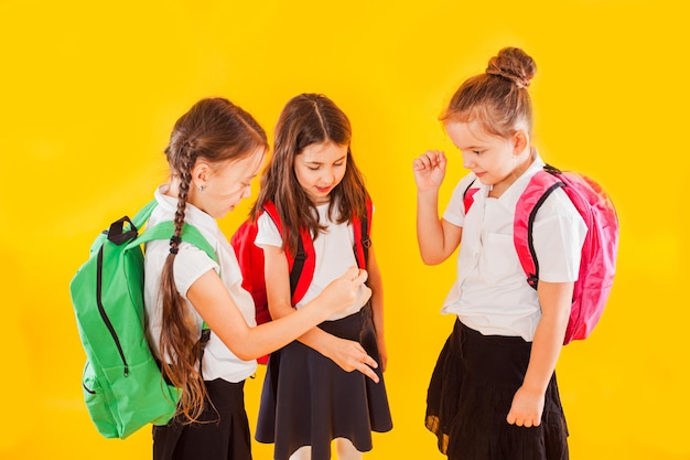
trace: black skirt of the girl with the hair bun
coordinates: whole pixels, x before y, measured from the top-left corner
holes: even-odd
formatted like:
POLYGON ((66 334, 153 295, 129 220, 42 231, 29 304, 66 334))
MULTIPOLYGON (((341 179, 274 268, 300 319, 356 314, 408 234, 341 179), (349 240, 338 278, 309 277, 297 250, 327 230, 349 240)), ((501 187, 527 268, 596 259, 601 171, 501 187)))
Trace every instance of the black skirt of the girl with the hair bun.
POLYGON ((483 335, 456 321, 431 376, 427 428, 450 460, 565 460, 568 426, 556 374, 546 392, 541 425, 506 421, 522 385, 531 343, 483 335))

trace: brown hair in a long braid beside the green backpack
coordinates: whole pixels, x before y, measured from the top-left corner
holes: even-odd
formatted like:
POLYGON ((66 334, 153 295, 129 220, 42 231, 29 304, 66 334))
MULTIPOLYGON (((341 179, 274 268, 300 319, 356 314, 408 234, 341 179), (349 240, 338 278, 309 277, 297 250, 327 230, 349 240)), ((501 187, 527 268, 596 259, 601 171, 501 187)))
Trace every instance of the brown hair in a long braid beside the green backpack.
POLYGON ((164 375, 182 389, 177 410, 188 421, 198 418, 206 398, 206 387, 200 372, 203 345, 200 343, 198 328, 191 321, 186 303, 175 287, 173 265, 184 225, 192 168, 197 159, 204 159, 213 165, 242 159, 261 147, 268 148, 266 132, 251 115, 227 99, 207 98, 196 103, 180 117, 165 148, 171 175, 180 180, 180 192, 174 217, 175 232, 161 275, 163 328, 160 350, 164 375), (168 363, 165 357, 172 362, 168 363))

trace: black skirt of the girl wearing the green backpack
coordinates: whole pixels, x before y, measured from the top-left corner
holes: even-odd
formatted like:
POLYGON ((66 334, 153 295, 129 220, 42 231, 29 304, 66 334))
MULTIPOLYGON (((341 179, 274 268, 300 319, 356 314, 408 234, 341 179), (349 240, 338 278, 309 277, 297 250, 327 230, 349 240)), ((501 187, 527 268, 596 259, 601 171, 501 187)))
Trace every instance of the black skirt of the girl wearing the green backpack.
POLYGON ((251 460, 251 436, 245 410, 245 382, 205 382, 213 407, 198 422, 173 418, 153 426, 153 460, 251 460))

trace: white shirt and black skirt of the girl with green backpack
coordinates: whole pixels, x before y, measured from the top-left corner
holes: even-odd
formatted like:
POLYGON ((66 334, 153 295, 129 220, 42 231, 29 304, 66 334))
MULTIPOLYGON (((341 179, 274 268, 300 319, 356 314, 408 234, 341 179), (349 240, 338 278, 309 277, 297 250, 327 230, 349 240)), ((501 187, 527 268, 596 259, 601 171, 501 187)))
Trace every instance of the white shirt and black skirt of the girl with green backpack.
MULTIPOLYGON (((168 185, 155 191, 158 206, 151 213, 148 225, 173 221, 177 200, 166 196, 168 185)), ((235 252, 228 244, 216 221, 192 204, 185 210, 185 222, 194 225, 215 249, 218 263, 202 249, 182 243, 174 260, 174 279, 179 293, 185 300, 190 320, 200 336, 203 319, 186 299, 188 288, 208 270, 219 272, 223 284, 250 327, 256 325, 254 301, 241 287, 241 272, 235 252)), ((160 277, 170 254, 169 240, 147 244, 144 258, 144 304, 147 310, 147 336, 155 355, 168 360, 160 352, 162 304, 160 303, 160 277)), ((244 383, 256 372, 257 362, 237 357, 218 336, 211 332, 202 357, 202 375, 213 407, 207 404, 200 422, 184 424, 183 417, 166 426, 153 427, 153 458, 169 459, 251 459, 251 438, 244 406, 244 383)))

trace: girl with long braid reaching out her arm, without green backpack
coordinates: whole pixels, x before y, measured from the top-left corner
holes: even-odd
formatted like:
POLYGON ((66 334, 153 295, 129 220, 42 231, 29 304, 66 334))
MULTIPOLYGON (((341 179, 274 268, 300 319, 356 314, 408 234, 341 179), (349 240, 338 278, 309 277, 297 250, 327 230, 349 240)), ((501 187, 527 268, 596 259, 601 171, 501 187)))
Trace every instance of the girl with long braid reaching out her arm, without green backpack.
POLYGON ((144 303, 151 347, 182 396, 175 417, 153 427, 154 460, 251 459, 244 382, 256 357, 348 307, 366 279, 352 267, 300 314, 256 325, 251 296, 216 220, 249 196, 267 149, 263 129, 223 98, 196 103, 176 121, 165 149, 170 182, 155 191, 149 225, 173 221, 175 231, 170 242, 147 244, 144 303), (184 223, 208 240, 217 263, 181 242, 184 223), (211 329, 205 344, 203 323, 211 329))

